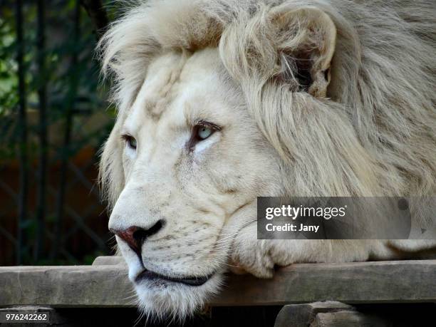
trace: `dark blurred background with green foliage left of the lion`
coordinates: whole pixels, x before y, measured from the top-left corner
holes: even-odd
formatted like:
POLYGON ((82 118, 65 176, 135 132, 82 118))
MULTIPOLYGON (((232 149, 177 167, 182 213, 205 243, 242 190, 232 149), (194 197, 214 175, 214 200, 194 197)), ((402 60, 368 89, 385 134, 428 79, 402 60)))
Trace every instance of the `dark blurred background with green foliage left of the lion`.
POLYGON ((0 266, 90 264, 115 244, 96 180, 115 110, 94 49, 117 14, 0 0, 0 266))

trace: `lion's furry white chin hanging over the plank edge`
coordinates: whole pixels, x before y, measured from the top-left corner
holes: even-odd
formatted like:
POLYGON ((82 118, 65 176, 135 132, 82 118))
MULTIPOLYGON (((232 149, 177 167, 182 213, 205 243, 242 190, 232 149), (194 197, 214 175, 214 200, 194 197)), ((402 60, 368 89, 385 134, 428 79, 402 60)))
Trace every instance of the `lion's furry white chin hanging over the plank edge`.
POLYGON ((222 280, 223 274, 216 272, 199 285, 143 278, 135 281, 134 285, 138 304, 147 316, 159 320, 183 320, 217 294, 222 280))

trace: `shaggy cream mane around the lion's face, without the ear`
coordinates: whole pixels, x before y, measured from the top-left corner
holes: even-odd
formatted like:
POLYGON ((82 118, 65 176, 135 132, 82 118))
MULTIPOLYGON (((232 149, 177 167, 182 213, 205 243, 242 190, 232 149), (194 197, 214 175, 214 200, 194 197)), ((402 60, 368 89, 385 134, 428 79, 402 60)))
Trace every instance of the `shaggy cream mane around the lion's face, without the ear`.
MULTIPOLYGON (((293 192, 433 194, 434 4, 391 1, 392 6, 383 6, 382 2, 146 1, 128 10, 101 41, 103 71, 115 77, 114 100, 123 115, 144 80, 148 63, 158 53, 171 48, 196 51, 219 46, 228 72, 246 90, 259 128, 286 160, 301 162, 301 170, 289 176, 293 192), (283 4, 276 11, 316 7, 336 25, 328 99, 289 92, 296 87, 294 78, 287 79, 286 86, 271 78, 292 77, 292 47, 301 41, 299 38, 308 37, 293 29, 274 34, 266 12, 269 3, 279 2, 283 4), (250 58, 246 58, 248 47, 250 58), (293 113, 301 110, 289 110, 301 107, 306 109, 299 116, 293 113), (351 120, 353 130, 336 119, 341 115, 329 119, 333 110, 351 120), (311 133, 318 143, 311 142, 308 131, 296 128, 299 120, 312 125, 311 133), (331 130, 317 127, 323 120, 334 124, 331 130), (337 135, 328 137, 326 133, 332 131, 337 135), (378 185, 370 185, 370 189, 360 182, 365 180, 360 165, 365 153, 348 147, 348 133, 357 133, 377 171, 378 185), (348 152, 350 162, 338 165, 336 158, 328 155, 332 149, 348 152), (304 162, 311 162, 311 167, 304 162)), ((123 180, 115 172, 119 165, 110 165, 110 157, 109 151, 103 154, 101 173, 113 203, 123 180)))

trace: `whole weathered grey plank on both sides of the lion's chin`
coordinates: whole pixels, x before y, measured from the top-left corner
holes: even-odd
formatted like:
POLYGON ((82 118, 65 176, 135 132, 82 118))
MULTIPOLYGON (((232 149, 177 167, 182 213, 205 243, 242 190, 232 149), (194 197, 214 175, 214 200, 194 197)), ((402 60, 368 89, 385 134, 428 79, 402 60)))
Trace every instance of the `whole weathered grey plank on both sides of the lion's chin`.
MULTIPOLYGON (((133 306, 123 264, 0 267, 0 306, 133 306)), ((230 275, 211 306, 436 302, 436 260, 294 264, 274 279, 230 275)))

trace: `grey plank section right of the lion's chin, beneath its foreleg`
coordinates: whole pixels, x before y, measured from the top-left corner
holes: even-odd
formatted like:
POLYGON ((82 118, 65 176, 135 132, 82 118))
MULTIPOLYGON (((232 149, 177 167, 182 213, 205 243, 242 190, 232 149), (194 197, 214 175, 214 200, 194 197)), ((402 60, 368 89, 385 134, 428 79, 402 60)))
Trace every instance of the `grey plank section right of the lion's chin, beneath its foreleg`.
POLYGON ((436 302, 436 260, 294 264, 274 279, 232 276, 214 305, 436 302))

